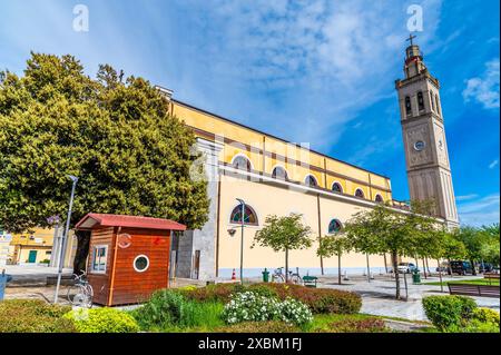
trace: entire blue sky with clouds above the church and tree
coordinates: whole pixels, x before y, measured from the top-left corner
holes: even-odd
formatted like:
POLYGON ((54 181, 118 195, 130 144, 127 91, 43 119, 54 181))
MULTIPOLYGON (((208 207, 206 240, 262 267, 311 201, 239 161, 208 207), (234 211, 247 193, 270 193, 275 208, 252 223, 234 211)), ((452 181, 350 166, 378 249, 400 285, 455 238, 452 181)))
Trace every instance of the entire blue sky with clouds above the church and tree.
POLYGON ((110 63, 177 99, 392 179, 407 199, 394 80, 410 4, 441 99, 461 221, 499 221, 499 1, 0 0, 0 68, 29 51, 110 63), (76 4, 89 31, 72 29, 76 4))

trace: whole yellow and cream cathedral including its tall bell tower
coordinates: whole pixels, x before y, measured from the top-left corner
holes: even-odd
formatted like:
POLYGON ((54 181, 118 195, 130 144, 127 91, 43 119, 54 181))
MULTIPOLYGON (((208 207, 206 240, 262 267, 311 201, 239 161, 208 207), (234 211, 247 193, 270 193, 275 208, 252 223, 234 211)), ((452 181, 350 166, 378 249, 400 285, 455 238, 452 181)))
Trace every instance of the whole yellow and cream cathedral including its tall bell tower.
MULTIPOLYGON (((411 198, 435 198, 438 215, 456 225, 458 214, 440 107, 439 81, 423 62, 419 47, 406 49, 405 78, 396 81, 411 198)), ((235 120, 207 112, 173 98, 170 110, 197 137, 205 156, 210 199, 208 221, 202 229, 176 237, 171 246, 171 274, 214 279, 239 272, 242 206, 244 203, 244 277, 261 276, 284 266, 284 254, 250 247, 266 216, 301 214, 312 229, 313 246, 289 252, 289 267, 305 274, 336 269, 337 259, 316 256, 317 239, 335 234, 357 211, 393 199, 389 177, 288 142, 235 120)), ((361 273, 370 266, 384 272, 390 259, 382 255, 348 254, 343 268, 361 273)))

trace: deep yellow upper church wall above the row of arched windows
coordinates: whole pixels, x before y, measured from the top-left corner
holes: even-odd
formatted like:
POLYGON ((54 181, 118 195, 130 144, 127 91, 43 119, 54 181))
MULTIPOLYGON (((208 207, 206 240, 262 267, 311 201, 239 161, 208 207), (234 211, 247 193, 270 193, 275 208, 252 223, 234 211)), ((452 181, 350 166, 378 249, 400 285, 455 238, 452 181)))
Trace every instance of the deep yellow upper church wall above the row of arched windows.
MULTIPOLYGON (((371 199, 369 189, 371 185, 372 199, 375 198, 375 190, 384 200, 391 199, 391 194, 382 190, 390 189, 390 180, 386 177, 325 157, 178 101, 173 101, 173 111, 186 125, 194 128, 196 135, 212 135, 213 139, 214 135, 224 137, 224 149, 219 154, 219 159, 226 164, 230 164, 236 155, 243 154, 257 171, 272 174, 273 168, 279 165, 287 170, 293 181, 304 183, 307 175, 313 175, 320 187, 331 189, 332 184, 338 181, 345 194, 353 196, 355 190, 361 188, 367 199, 371 199), (285 157, 287 162, 284 161, 285 157)), ((204 138, 210 139, 210 137, 204 138)))

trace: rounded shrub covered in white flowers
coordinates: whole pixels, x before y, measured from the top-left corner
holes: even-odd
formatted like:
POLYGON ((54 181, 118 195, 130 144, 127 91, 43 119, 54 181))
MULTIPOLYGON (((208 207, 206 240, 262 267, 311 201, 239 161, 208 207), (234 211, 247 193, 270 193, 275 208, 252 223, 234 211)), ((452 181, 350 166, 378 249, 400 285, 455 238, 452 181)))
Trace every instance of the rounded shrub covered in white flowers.
POLYGON ((313 321, 308 306, 298 300, 292 298, 279 300, 249 290, 235 293, 222 316, 228 324, 282 321, 304 325, 313 321))

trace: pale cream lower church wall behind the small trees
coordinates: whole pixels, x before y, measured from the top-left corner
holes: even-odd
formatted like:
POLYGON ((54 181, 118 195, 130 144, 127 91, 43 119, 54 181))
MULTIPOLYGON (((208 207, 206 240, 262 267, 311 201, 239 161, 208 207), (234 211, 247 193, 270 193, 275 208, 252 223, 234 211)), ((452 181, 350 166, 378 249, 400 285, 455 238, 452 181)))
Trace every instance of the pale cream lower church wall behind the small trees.
MULTIPOLYGON (((223 177, 220 185, 219 209, 219 269, 239 268, 240 227, 230 224, 232 210, 237 206, 236 198, 242 198, 253 207, 258 218, 258 226, 246 226, 244 230, 244 268, 276 268, 284 266, 284 253, 275 253, 271 248, 255 246, 250 248, 254 236, 265 223, 268 215, 286 216, 291 213, 303 215, 304 224, 312 228, 313 246, 304 250, 289 253, 289 266, 302 268, 320 268, 321 262, 316 256, 318 238, 318 209, 317 197, 311 194, 292 190, 289 188, 274 187, 261 183, 252 183, 234 177, 223 177), (228 229, 236 233, 229 236, 228 229)), ((332 218, 340 218, 343 223, 358 211, 361 207, 343 201, 330 200, 321 197, 321 235, 327 234, 328 223, 332 218)), ((372 267, 384 267, 381 256, 371 256, 372 267)), ((350 254, 343 257, 343 267, 364 267, 365 255, 350 254)), ((337 258, 324 260, 324 268, 337 267, 337 258)))

